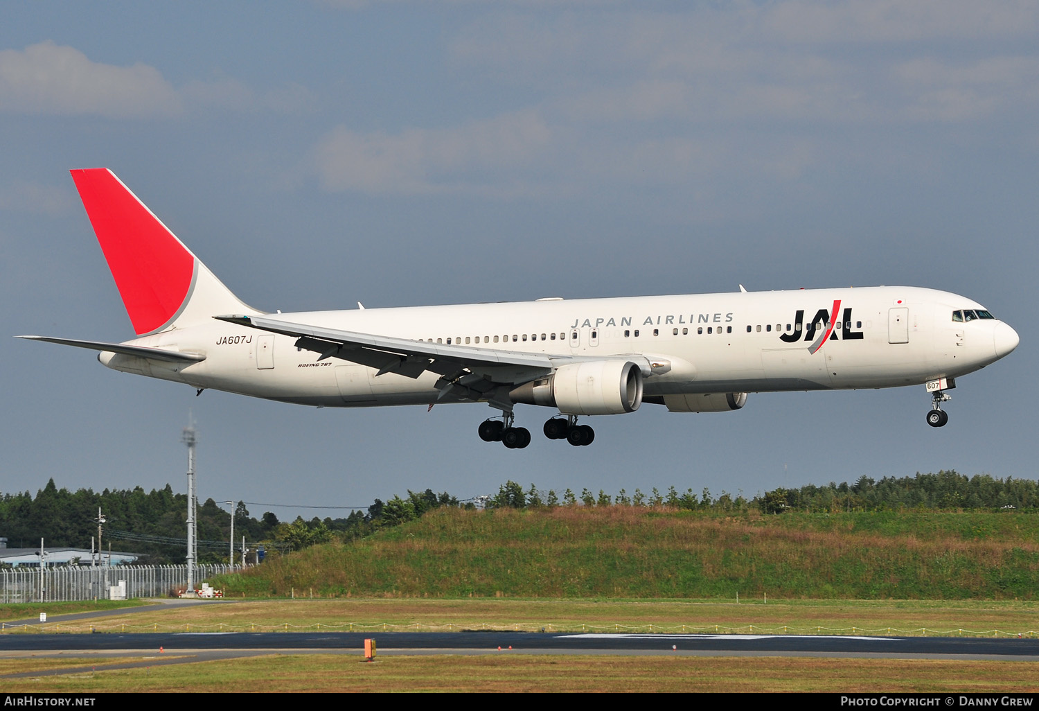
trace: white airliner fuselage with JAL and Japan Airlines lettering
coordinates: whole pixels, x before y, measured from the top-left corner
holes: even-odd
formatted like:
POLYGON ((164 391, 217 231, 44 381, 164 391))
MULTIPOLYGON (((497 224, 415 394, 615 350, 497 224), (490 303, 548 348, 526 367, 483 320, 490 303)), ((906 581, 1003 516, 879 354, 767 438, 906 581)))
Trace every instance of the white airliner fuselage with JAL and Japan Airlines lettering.
MULTIPOLYGON (((358 309, 267 318, 514 352, 643 356, 663 364, 644 381, 645 396, 657 398, 887 388, 957 377, 998 360, 1017 344, 1014 331, 996 319, 954 321, 954 311, 965 309, 983 307, 943 291, 869 287, 358 309)), ((295 341, 212 320, 128 342, 204 354, 198 363, 110 352, 100 360, 116 370, 195 388, 308 405, 459 401, 437 399, 435 373, 377 375, 374 368, 338 358, 319 360, 318 353, 296 348, 295 341)))

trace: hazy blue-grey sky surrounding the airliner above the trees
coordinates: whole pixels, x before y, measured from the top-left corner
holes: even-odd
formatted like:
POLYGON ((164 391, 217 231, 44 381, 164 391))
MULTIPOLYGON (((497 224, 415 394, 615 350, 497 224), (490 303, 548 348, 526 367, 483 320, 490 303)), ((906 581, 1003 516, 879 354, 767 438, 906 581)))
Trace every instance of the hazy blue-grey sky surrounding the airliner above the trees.
MULTIPOLYGON (((0 492, 184 488, 367 506, 956 469, 1036 476, 1039 4, 9 3, 0 22, 0 492), (914 285, 1021 336, 949 425, 909 389, 645 405, 595 443, 481 442, 486 405, 314 410, 15 334, 133 336, 68 170, 107 166, 283 311, 914 285)), ((250 506, 259 516, 266 507, 250 506)), ((281 518, 334 510, 273 508, 281 518)))

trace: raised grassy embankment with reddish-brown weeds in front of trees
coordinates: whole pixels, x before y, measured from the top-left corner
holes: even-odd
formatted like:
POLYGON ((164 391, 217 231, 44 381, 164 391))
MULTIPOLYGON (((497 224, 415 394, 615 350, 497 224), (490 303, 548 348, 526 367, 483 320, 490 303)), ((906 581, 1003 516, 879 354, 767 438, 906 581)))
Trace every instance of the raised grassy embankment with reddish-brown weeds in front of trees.
POLYGON ((234 597, 1036 600, 1039 517, 443 508, 214 584, 234 597))

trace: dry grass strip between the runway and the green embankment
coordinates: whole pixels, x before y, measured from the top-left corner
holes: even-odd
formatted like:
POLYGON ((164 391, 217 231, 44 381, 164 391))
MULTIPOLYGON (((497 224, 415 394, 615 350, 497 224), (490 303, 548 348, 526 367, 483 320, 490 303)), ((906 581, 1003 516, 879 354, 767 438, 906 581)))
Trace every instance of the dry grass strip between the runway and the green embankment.
POLYGON ((228 601, 33 626, 55 632, 451 630, 809 634, 1039 633, 1039 603, 904 601, 335 599, 228 601), (751 629, 751 626, 753 628, 751 629), (962 630, 962 632, 961 632, 962 630))

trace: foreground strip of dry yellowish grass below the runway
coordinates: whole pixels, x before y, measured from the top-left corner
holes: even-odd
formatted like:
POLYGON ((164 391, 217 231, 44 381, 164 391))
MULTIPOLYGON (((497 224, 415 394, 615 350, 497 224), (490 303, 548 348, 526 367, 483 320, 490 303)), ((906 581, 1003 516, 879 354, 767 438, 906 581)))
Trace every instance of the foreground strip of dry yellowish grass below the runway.
MULTIPOLYGON (((27 662, 32 670, 37 660, 27 662)), ((28 668, 26 670, 29 670, 28 668)), ((285 655, 3 679, 7 692, 1035 692, 1039 662, 789 657, 285 655)))

